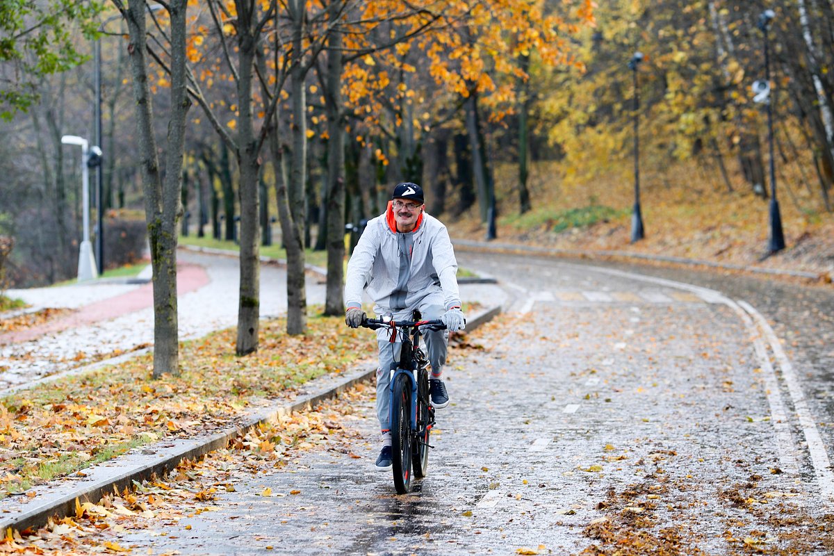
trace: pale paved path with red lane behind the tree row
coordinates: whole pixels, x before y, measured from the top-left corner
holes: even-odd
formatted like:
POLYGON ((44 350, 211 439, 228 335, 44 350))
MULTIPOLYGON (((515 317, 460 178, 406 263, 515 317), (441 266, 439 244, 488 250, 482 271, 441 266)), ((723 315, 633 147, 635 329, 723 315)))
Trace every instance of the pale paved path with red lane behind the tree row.
MULTIPOLYGON (((178 262, 183 271, 178 280, 179 338, 199 338, 235 326, 238 259, 180 250, 178 262)), ((23 341, 3 345, 0 337, 0 390, 153 345, 150 284, 93 282, 10 290, 8 294, 38 307, 73 308, 78 312, 21 334, 18 339, 23 341)), ((324 303, 324 284, 316 276, 308 276, 307 302, 324 303)), ((261 316, 279 316, 286 309, 284 268, 262 265, 261 316)))

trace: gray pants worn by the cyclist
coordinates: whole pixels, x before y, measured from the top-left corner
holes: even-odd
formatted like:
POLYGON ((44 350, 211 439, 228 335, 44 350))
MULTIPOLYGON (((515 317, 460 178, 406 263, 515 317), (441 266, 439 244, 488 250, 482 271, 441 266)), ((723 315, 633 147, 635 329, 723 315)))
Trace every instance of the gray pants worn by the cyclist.
MULTIPOLYGON (((418 305, 423 320, 434 320, 445 313, 442 304, 431 303, 434 299, 425 299, 425 305, 418 305)), ((404 309, 394 313, 394 320, 412 320, 413 308, 404 309)), ((379 314, 379 313, 377 313, 379 314)), ((376 369, 376 415, 379 418, 379 428, 385 432, 390 429, 389 416, 391 411, 391 370, 396 369, 399 364, 399 352, 402 342, 399 334, 396 342, 391 343, 391 331, 389 328, 377 330, 377 344, 379 345, 379 368, 376 369)), ((446 363, 446 346, 449 343, 448 330, 425 330, 426 355, 431 363, 431 378, 440 378, 443 373, 443 366, 446 363)))

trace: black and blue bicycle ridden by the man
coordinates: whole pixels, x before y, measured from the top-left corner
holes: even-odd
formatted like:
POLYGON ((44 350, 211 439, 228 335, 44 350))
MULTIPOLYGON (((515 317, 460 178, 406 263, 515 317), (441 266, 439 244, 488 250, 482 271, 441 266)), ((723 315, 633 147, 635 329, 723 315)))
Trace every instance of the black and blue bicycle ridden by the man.
POLYGON ((435 408, 429 397, 429 360, 420 348, 421 328, 444 330, 442 320, 416 320, 394 322, 389 317, 365 318, 364 328, 390 328, 390 341, 398 336, 402 340, 399 366, 390 373, 391 413, 391 463, 394 471, 394 488, 404 494, 411 490, 412 478, 424 478, 429 466, 429 437, 435 426, 435 408), (412 470, 414 474, 412 475, 412 470))

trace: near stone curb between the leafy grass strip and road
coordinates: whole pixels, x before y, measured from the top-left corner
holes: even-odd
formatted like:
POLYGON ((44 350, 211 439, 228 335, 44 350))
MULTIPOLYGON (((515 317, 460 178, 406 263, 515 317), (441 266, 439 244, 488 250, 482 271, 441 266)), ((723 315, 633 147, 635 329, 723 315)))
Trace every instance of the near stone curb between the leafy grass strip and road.
MULTIPOLYGON (((489 322, 500 312, 500 306, 496 306, 478 313, 469 319, 467 331, 489 322)), ((273 422, 289 413, 313 408, 325 399, 338 396, 354 384, 373 378, 375 374, 376 368, 361 369, 335 385, 322 388, 294 402, 276 404, 246 416, 243 423, 220 433, 195 439, 162 440, 144 448, 137 448, 137 451, 85 469, 83 476, 76 474, 61 483, 38 487, 40 492, 35 498, 5 498, 0 501, 0 512, 3 516, 0 518, 0 528, 3 531, 8 528, 18 531, 30 527, 37 528, 53 516, 61 518, 73 515, 77 502, 98 503, 105 493, 113 492, 114 488, 122 490, 154 474, 167 473, 176 468, 183 459, 199 458, 206 453, 224 448, 230 440, 245 434, 260 423, 273 422)))

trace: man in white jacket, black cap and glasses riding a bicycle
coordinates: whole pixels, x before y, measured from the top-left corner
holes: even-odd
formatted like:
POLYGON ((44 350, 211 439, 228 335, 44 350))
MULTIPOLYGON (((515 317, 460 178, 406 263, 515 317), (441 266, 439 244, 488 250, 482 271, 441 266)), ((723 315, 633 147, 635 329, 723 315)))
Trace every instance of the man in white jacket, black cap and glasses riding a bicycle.
MULTIPOLYGON (((440 318, 446 330, 426 330, 425 344, 431 363, 429 392, 435 408, 449 405, 443 365, 449 332, 465 326, 458 292, 458 263, 446 227, 425 213, 423 189, 415 183, 399 183, 383 214, 372 218, 359 238, 348 263, 344 286, 345 323, 357 328, 365 318, 362 291, 374 301, 374 313, 392 314, 394 320, 410 320, 414 310, 422 318, 440 318)), ((389 374, 397 368, 398 341, 391 343, 384 328, 377 331, 379 368, 376 371, 376 413, 383 446, 376 467, 391 466, 389 428, 389 374)))

